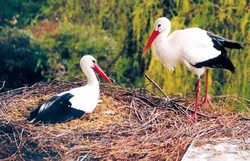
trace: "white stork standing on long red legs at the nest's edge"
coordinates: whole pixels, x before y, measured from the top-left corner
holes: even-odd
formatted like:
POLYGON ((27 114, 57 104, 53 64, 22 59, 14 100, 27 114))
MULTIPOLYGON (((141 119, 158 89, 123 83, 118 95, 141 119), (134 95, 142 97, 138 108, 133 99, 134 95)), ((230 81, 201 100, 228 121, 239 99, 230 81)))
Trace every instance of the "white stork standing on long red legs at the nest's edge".
POLYGON ((200 76, 206 71, 206 95, 203 103, 211 105, 208 98, 208 69, 222 68, 233 73, 235 67, 228 58, 225 48, 240 49, 242 46, 196 27, 176 30, 169 35, 170 30, 170 20, 166 17, 158 18, 144 52, 153 43, 156 58, 169 70, 174 70, 178 64, 183 64, 198 76, 194 115, 190 118, 190 121, 194 122, 197 120, 200 76))

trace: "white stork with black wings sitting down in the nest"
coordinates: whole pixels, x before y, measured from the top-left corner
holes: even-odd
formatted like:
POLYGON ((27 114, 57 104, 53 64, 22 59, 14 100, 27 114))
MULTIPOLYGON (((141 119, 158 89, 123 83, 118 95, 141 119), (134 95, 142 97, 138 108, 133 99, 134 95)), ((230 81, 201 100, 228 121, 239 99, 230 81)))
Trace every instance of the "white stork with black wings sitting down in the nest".
POLYGON ((111 81, 91 55, 83 56, 80 66, 87 76, 87 85, 62 92, 48 99, 30 113, 28 118, 30 123, 64 123, 80 118, 84 113, 91 113, 95 109, 99 98, 99 82, 94 71, 107 82, 111 83, 111 81))

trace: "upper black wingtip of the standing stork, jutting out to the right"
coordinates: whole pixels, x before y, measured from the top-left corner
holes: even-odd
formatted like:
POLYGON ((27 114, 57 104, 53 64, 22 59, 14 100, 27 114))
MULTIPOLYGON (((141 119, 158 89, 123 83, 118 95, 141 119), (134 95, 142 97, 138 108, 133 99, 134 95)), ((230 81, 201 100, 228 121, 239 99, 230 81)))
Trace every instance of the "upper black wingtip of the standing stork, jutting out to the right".
POLYGON ((242 49, 243 48, 240 43, 233 41, 233 40, 226 39, 224 37, 220 37, 220 36, 215 35, 209 31, 207 31, 207 35, 212 40, 220 42, 223 47, 230 48, 230 49, 242 49))

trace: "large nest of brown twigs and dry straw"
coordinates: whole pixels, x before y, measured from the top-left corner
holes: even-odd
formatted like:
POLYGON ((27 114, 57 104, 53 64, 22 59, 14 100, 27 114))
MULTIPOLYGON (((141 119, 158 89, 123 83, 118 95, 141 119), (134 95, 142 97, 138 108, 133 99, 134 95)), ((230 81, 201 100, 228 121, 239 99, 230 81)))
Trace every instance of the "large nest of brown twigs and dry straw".
MULTIPOLYGON (((145 89, 108 84, 101 84, 102 102, 81 119, 53 126, 26 121, 44 100, 81 85, 81 80, 40 82, 1 93, 0 159, 181 160, 195 138, 249 137, 249 113, 202 108, 199 120, 188 123, 188 98, 169 100, 145 89)), ((224 104, 228 97, 218 99, 224 104)))

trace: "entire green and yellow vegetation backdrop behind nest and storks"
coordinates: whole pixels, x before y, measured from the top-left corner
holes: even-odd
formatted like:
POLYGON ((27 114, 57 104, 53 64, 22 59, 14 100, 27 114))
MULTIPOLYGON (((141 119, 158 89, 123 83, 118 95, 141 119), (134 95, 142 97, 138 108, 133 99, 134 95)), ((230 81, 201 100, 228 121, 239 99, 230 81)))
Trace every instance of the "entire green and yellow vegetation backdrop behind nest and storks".
MULTIPOLYGON (((93 54, 121 85, 143 87, 148 74, 167 93, 191 93, 196 76, 170 72, 143 47, 160 16, 172 31, 198 26, 242 42, 229 51, 236 73, 213 70, 213 95, 250 97, 250 6, 247 0, 0 0, 0 81, 5 89, 53 78, 81 77, 79 59, 93 54)), ((154 88, 147 85, 154 91, 154 88)), ((3 89, 2 89, 3 90, 3 89)), ((157 91, 155 91, 157 92, 157 91)))

